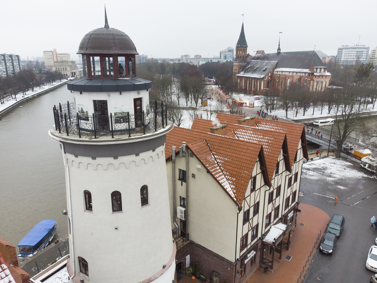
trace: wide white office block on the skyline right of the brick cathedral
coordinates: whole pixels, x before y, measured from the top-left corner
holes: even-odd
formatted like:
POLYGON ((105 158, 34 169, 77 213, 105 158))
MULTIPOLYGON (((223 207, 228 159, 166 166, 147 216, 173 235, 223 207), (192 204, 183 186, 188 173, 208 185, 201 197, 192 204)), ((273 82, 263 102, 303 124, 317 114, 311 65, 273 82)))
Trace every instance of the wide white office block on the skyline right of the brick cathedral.
POLYGON ((365 45, 342 45, 338 48, 336 60, 341 65, 355 65, 356 62, 368 61, 369 46, 365 45))

